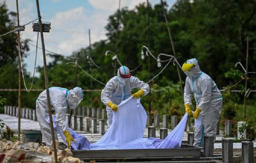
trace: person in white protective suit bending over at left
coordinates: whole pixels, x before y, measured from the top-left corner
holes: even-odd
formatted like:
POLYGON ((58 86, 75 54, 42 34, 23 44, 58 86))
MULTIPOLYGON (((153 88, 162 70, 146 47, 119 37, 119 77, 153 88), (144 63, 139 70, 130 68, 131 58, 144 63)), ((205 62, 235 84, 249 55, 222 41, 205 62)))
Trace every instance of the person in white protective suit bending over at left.
MULTIPOLYGON (((67 107, 75 109, 83 99, 83 90, 80 87, 68 90, 60 87, 50 87, 50 105, 52 113, 56 116, 56 125, 60 126, 65 137, 68 147, 71 145, 71 140, 74 141, 68 131, 68 122, 65 119, 67 107)), ((46 90, 38 96, 36 100, 36 116, 42 131, 43 138, 47 146, 51 145, 51 127, 46 121, 49 118, 47 106, 46 90)), ((55 139, 58 140, 57 130, 54 128, 55 139)))

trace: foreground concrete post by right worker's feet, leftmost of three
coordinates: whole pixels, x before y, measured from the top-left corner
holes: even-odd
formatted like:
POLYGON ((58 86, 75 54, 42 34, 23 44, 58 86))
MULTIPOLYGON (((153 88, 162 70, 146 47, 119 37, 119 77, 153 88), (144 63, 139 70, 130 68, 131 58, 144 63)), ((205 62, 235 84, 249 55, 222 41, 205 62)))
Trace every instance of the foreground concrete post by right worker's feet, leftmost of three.
POLYGON ((213 157, 214 136, 205 135, 203 138, 203 156, 213 157))

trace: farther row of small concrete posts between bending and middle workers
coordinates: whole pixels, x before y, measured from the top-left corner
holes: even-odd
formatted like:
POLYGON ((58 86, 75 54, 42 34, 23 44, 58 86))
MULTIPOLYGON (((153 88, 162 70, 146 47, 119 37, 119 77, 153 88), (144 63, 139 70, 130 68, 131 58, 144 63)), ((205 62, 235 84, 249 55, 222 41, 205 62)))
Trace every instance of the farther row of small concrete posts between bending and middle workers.
MULTIPOLYGON (((70 109, 67 110, 66 114, 70 114, 70 109)), ((72 115, 77 116, 88 116, 90 118, 105 119, 106 109, 101 108, 90 108, 90 107, 77 107, 72 111, 72 115)))

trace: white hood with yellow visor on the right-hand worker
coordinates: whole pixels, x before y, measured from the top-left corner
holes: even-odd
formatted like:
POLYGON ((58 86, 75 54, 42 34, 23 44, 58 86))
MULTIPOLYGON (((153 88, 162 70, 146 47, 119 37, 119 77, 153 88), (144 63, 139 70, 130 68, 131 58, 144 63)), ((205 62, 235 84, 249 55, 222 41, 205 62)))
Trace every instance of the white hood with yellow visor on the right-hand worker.
POLYGON ((190 79, 195 79, 197 77, 199 77, 201 73, 201 70, 200 70, 200 67, 199 67, 199 64, 198 64, 198 61, 193 58, 193 59, 189 59, 186 61, 186 63, 184 64, 195 64, 195 66, 193 66, 190 70, 188 71, 184 71, 184 73, 190 78, 190 79))

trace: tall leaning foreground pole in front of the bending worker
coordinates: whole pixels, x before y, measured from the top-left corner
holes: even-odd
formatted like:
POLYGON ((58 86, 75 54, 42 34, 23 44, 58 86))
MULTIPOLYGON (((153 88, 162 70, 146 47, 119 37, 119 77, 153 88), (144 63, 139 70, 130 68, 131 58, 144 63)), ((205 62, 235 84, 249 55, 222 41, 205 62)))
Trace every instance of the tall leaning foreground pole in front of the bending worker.
POLYGON ((41 34, 42 50, 43 50, 43 66, 44 66, 44 71, 45 71, 45 89, 46 89, 47 106, 48 106, 49 118, 50 118, 50 126, 51 126, 51 139, 53 141, 53 151, 54 151, 55 163, 58 163, 57 149, 56 149, 56 143, 55 143, 55 137, 54 137, 53 118, 51 117, 49 84, 48 84, 46 56, 45 56, 45 42, 44 42, 44 39, 43 39, 43 27, 42 27, 42 21, 41 21, 41 15, 40 15, 38 0, 36 0, 36 7, 37 7, 37 11, 38 11, 38 18, 39 18, 38 22, 39 22, 39 28, 40 28, 40 34, 41 34))

